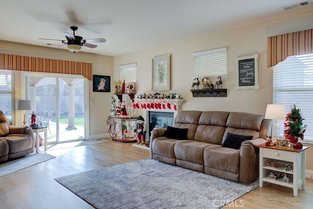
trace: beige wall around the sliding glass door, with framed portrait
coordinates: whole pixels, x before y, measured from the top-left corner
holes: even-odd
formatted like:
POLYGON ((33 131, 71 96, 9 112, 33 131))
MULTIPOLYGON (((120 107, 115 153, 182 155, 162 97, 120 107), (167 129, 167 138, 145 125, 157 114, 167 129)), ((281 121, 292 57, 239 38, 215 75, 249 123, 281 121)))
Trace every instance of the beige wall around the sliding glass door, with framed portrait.
MULTIPOLYGON (((41 46, 31 46, 3 41, 0 41, 0 53, 92 63, 93 74, 108 75, 111 77, 113 76, 112 56, 102 56, 84 52, 78 52, 74 54, 69 52, 68 50, 47 48, 41 46)), ((21 98, 20 79, 20 72, 16 71, 17 100, 21 98)), ((111 97, 112 93, 92 92, 92 81, 89 81, 89 101, 93 101, 93 106, 89 107, 90 136, 96 137, 99 135, 100 137, 103 137, 104 134, 108 133, 106 120, 111 108, 111 97)), ((22 124, 20 111, 17 111, 16 114, 17 124, 22 124)))

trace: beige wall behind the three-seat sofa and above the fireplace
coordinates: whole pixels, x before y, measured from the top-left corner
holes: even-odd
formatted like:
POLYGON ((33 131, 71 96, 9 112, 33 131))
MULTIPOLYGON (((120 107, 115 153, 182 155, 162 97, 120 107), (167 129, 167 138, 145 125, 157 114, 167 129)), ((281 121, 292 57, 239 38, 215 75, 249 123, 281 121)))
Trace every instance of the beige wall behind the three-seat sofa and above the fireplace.
MULTIPOLYGON (((312 11, 277 19, 271 22, 247 25, 216 34, 209 34, 164 46, 158 46, 130 54, 114 57, 114 78, 119 78, 118 66, 127 63, 137 63, 136 93, 154 93, 151 91, 152 58, 160 55, 171 55, 171 91, 177 92, 186 101, 182 110, 218 110, 237 111, 265 114, 267 104, 272 103, 272 69, 267 68, 267 37, 268 29, 271 35, 281 34, 281 31, 292 32, 299 30, 299 21, 303 28, 312 28, 312 11), (292 24, 288 24, 290 21, 292 24), (284 27, 278 27, 280 23, 284 27), (288 25, 288 28, 285 28, 288 25), (276 28, 276 29, 275 29, 276 28), (296 29, 293 29, 296 28, 296 29), (192 97, 191 84, 193 82, 193 57, 196 51, 227 47, 227 73, 223 78, 223 88, 227 89, 227 97, 192 97), (259 54, 259 90, 235 90, 236 62, 235 57, 259 54), (188 108, 186 103, 190 102, 188 108)), ((210 79, 212 83, 216 78, 210 79)), ((312 156, 313 147, 309 149, 308 156, 312 156)), ((307 169, 313 170, 313 163, 307 161, 307 169)))

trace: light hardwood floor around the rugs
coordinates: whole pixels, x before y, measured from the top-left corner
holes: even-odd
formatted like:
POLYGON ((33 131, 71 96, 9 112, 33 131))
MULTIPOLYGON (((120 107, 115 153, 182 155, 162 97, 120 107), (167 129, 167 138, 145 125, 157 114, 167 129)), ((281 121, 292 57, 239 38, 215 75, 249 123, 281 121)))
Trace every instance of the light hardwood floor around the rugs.
MULTIPOLYGON (((110 140, 110 139, 109 139, 110 140)), ((114 164, 149 158, 149 150, 109 142, 47 151, 57 158, 0 177, 0 209, 90 209, 54 179, 114 164)), ((293 197, 292 188, 265 184, 225 208, 312 208, 313 181, 293 197)), ((231 192, 231 191, 230 191, 231 192)))

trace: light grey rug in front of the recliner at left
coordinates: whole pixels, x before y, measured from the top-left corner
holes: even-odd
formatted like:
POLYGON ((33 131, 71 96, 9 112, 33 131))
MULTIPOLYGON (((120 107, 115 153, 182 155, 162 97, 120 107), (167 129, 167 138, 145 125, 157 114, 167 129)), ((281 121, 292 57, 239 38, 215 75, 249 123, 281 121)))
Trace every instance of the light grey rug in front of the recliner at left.
POLYGON ((0 177, 53 158, 55 156, 46 153, 31 153, 23 158, 0 164, 0 177))

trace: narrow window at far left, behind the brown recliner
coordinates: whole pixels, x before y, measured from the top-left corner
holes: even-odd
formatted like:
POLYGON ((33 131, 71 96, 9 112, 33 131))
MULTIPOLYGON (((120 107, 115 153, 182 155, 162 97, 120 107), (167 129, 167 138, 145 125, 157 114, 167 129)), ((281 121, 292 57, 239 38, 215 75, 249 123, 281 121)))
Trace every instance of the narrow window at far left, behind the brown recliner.
POLYGON ((10 125, 15 125, 14 80, 14 70, 0 70, 0 110, 8 118, 10 125))

